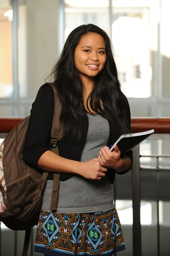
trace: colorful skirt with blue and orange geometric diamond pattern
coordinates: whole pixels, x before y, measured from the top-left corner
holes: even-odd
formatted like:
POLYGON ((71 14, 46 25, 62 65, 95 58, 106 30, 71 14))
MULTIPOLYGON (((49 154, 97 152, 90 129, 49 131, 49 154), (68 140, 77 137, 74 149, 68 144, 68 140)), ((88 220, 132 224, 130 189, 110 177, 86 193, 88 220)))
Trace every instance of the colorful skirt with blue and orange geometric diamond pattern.
POLYGON ((81 214, 40 212, 35 252, 111 256, 121 250, 125 250, 125 243, 115 208, 81 214))

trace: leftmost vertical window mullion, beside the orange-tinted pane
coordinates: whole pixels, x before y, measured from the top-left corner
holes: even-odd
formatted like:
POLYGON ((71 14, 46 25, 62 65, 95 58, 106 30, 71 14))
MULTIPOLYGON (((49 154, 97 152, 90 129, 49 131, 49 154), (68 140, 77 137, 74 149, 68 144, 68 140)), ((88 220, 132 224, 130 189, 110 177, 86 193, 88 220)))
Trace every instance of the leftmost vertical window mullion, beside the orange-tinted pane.
POLYGON ((18 116, 19 82, 18 82, 18 0, 12 1, 12 68, 13 68, 13 116, 18 116))

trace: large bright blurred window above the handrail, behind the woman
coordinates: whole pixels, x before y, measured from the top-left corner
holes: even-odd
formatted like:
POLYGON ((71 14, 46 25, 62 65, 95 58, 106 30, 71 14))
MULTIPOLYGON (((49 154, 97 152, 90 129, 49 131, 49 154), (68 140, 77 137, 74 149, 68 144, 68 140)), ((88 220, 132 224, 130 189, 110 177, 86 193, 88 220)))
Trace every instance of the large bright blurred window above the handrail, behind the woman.
POLYGON ((132 116, 169 116, 170 1, 13 0, 13 20, 12 6, 4 2, 0 7, 0 98, 7 100, 0 100, 1 116, 29 114, 69 33, 87 23, 104 29, 112 40, 132 116))

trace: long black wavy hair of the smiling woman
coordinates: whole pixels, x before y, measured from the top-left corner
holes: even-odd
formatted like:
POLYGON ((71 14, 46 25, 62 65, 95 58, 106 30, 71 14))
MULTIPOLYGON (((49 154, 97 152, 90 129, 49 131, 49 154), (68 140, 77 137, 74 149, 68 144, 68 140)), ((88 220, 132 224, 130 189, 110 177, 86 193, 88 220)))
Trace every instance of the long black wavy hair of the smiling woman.
MULTIPOLYGON (((87 118, 87 113, 82 100, 82 79, 74 64, 74 52, 82 35, 97 33, 105 40, 106 62, 103 70, 94 78, 94 88, 87 100, 92 111, 112 121, 113 116, 119 127, 119 135, 128 133, 127 106, 123 100, 120 89, 116 64, 113 58, 112 44, 106 32, 93 24, 78 26, 68 36, 62 53, 54 66, 51 75, 54 76, 54 84, 57 87, 62 103, 62 122, 64 133, 71 132, 72 138, 79 140, 87 118), (101 107, 101 100, 104 109, 101 107)), ((92 113, 91 113, 92 114, 92 113)))

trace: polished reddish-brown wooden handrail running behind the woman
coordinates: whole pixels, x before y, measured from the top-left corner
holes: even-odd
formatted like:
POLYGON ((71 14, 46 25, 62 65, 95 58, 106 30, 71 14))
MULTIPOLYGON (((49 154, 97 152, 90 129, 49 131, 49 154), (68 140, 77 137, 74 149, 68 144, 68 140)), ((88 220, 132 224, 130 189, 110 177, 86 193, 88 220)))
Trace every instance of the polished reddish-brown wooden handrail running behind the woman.
MULTIPOLYGON (((23 118, 1 117, 0 133, 10 132, 23 118)), ((132 118, 132 132, 140 132, 154 129, 155 133, 170 133, 170 118, 132 118)))

